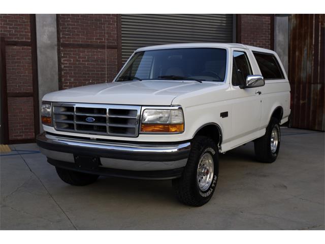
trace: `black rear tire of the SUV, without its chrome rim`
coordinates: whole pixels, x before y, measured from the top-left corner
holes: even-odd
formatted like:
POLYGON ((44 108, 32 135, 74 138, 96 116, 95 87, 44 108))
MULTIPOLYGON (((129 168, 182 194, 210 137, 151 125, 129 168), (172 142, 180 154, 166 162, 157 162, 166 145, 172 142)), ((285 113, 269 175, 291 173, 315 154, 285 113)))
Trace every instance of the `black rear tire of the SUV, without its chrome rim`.
POLYGON ((266 133, 264 136, 256 139, 254 141, 254 150, 256 159, 259 162, 263 163, 273 163, 279 154, 280 142, 281 142, 281 133, 280 133, 280 125, 278 119, 272 117, 271 121, 266 128, 266 133), (278 144, 275 153, 271 151, 271 133, 273 128, 278 130, 278 144))

